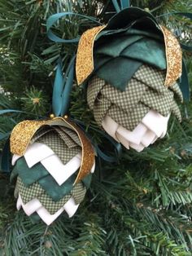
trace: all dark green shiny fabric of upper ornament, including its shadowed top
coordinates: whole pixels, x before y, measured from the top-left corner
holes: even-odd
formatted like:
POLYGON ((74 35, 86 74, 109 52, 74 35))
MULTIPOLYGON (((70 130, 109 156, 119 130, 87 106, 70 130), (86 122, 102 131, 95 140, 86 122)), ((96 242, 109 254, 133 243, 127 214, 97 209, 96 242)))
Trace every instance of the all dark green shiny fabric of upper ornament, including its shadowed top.
MULTIPOLYGON (((131 9, 131 10, 130 10, 131 9)), ((164 35, 155 17, 140 8, 114 15, 94 42, 94 72, 124 91, 142 64, 167 68, 164 35)))

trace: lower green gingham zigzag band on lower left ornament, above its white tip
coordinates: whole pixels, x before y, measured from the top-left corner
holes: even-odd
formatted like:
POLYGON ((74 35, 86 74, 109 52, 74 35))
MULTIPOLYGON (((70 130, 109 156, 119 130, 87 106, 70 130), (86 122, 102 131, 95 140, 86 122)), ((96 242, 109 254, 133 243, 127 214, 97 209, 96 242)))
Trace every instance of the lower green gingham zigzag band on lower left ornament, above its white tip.
POLYGON ((53 201, 51 197, 46 194, 45 190, 41 188, 39 183, 33 183, 33 185, 26 187, 20 177, 18 177, 16 187, 18 187, 18 191, 16 192, 17 196, 20 192, 24 204, 37 198, 50 214, 55 214, 55 212, 57 212, 71 197, 74 198, 76 205, 80 204, 81 201, 83 201, 86 192, 82 183, 77 183, 68 195, 64 196, 59 201, 53 201))

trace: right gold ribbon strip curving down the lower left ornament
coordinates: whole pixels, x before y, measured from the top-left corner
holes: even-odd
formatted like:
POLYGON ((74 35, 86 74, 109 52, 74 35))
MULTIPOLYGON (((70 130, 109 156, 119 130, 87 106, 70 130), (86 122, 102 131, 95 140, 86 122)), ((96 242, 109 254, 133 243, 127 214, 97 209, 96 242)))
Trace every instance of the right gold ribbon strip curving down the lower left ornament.
POLYGON ((65 121, 69 126, 72 127, 72 130, 76 131, 78 135, 81 145, 82 145, 82 158, 81 158, 81 167, 79 173, 76 176, 76 180, 73 185, 80 182, 81 179, 85 178, 87 174, 89 174, 91 168, 94 166, 94 148, 90 143, 89 139, 86 138, 84 132, 76 126, 76 124, 72 121, 66 120, 63 117, 55 117, 56 119, 62 119, 65 121))

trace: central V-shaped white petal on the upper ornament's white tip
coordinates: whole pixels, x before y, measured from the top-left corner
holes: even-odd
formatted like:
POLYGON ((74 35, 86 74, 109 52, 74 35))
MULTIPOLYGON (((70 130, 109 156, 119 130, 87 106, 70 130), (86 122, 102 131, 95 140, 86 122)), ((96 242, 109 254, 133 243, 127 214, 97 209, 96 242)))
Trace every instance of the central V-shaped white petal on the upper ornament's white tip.
POLYGON ((139 144, 141 143, 142 137, 146 134, 146 131, 146 126, 140 123, 133 131, 126 130, 123 126, 119 126, 116 133, 123 136, 124 139, 127 139, 130 143, 139 144))

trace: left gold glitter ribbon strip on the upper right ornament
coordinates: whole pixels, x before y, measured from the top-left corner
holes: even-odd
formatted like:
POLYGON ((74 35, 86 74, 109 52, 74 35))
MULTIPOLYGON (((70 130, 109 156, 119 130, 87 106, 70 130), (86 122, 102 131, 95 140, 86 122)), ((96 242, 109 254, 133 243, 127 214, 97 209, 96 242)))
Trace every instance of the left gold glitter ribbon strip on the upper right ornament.
POLYGON ((76 53, 76 81, 80 85, 94 70, 94 39, 106 26, 88 29, 82 34, 76 53))

